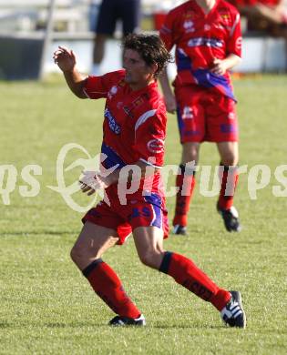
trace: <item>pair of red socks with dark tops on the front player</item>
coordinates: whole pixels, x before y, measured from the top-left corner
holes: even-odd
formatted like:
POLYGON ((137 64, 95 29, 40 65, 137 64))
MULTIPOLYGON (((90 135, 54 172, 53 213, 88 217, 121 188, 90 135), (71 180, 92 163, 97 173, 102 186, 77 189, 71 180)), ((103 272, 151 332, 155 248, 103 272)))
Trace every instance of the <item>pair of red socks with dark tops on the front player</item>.
MULTIPOLYGON (((231 299, 230 292, 220 289, 190 259, 179 254, 165 252, 159 271, 164 272, 191 292, 209 301, 216 309, 223 309, 231 299)), ((93 261, 83 270, 97 295, 108 307, 122 317, 136 319, 140 311, 128 298, 117 274, 101 259, 93 261)))

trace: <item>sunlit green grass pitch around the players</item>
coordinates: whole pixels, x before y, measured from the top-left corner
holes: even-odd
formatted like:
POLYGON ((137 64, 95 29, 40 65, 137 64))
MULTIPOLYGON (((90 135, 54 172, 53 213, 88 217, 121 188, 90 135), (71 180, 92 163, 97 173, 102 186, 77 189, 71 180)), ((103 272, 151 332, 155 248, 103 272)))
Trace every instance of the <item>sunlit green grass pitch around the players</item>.
MULTIPOLYGON (((272 187, 284 190, 274 172, 287 165, 287 77, 244 78, 235 81, 235 88, 241 165, 248 165, 248 172, 259 164, 270 167, 270 184, 251 199, 249 174, 241 176, 235 199, 240 234, 225 231, 215 211, 216 198, 201 196, 198 186, 189 235, 171 235, 165 247, 193 259, 220 286, 240 289, 247 329, 225 328, 210 304, 142 266, 131 238, 111 249, 105 260, 118 272, 148 326, 111 329, 107 323, 112 312, 69 259, 81 214, 46 188, 56 186, 56 157, 65 144, 80 144, 91 155, 98 152, 104 101, 78 100, 58 78, 45 84, 0 83, 0 165, 17 170, 10 205, 3 203, 5 183, 0 190, 1 354, 286 354, 287 198, 286 193, 285 198, 274 197, 272 187), (19 192, 27 186, 21 171, 28 164, 43 169, 36 177, 40 192, 33 198, 19 192)), ((166 163, 177 164, 175 117, 169 117, 168 128, 166 163)), ((78 157, 83 155, 75 150, 68 160, 78 157)), ((218 162, 216 148, 204 144, 200 165, 218 162)), ((80 170, 67 172, 67 181, 80 170)), ((285 177, 285 190, 286 185, 285 177)), ((80 193, 74 198, 87 203, 80 193)), ((168 207, 171 219, 174 198, 168 207)))

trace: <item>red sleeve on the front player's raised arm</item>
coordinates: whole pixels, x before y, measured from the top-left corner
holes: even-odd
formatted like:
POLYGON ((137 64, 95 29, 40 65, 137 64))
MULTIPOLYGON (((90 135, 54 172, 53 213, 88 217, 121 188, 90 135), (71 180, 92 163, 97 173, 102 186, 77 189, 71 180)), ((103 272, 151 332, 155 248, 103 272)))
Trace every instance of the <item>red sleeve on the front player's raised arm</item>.
POLYGON ((83 91, 88 98, 107 97, 109 89, 118 84, 123 76, 124 70, 107 73, 104 76, 87 76, 83 91))

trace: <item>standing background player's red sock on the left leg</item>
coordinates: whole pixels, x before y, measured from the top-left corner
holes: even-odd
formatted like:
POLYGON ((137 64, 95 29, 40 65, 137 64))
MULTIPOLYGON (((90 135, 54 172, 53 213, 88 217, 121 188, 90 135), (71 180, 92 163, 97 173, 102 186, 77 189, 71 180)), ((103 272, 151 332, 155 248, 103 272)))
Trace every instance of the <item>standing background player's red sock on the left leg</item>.
POLYGON ((190 210, 190 200, 195 186, 195 172, 186 171, 183 164, 179 165, 179 174, 176 179, 176 187, 179 188, 176 198, 175 216, 173 226, 187 226, 187 214, 190 210))

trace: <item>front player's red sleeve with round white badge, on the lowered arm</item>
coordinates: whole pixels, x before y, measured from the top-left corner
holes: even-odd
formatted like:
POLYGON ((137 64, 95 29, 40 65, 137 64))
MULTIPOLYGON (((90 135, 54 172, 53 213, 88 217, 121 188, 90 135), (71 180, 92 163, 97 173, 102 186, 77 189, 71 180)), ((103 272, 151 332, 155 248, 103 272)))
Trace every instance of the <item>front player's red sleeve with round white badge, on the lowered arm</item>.
POLYGON ((134 143, 138 160, 153 167, 163 166, 165 122, 166 117, 158 114, 156 109, 146 111, 138 117, 134 143))

